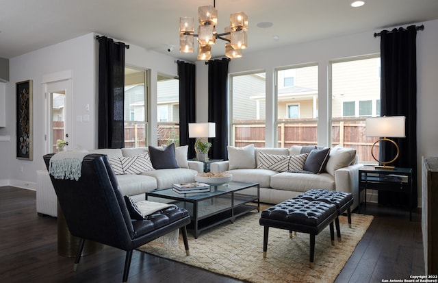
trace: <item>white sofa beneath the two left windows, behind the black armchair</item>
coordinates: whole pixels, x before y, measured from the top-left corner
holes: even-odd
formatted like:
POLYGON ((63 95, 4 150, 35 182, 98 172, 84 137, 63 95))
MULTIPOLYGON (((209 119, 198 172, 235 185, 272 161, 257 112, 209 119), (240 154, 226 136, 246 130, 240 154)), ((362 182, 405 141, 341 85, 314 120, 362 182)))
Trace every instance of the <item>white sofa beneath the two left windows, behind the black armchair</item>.
MULTIPOLYGON (((194 175, 203 172, 204 164, 199 161, 187 160, 188 146, 176 147, 175 158, 179 168, 173 169, 144 169, 142 173, 117 174, 117 181, 123 195, 128 195, 134 201, 144 200, 146 192, 157 188, 171 188, 172 184, 181 182, 194 182, 194 175)), ((123 148, 123 149, 93 149, 89 153, 106 154, 112 162, 118 158, 129 158, 149 154, 147 147, 123 148)), ((113 168, 114 169, 114 168, 113 168)), ((57 198, 51 184, 47 170, 38 170, 36 186, 36 210, 38 214, 46 214, 57 217, 57 198)))

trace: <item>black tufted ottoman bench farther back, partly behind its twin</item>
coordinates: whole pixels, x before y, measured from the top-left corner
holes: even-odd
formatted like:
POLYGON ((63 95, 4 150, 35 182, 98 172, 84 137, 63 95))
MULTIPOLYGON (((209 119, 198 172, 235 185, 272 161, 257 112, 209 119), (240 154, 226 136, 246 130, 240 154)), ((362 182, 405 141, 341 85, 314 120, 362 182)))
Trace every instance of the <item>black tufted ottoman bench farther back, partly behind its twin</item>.
MULTIPOLYGON (((351 210, 353 204, 353 197, 351 193, 341 192, 339 190, 323 190, 312 189, 294 197, 294 199, 306 199, 307 201, 322 201, 326 204, 334 204, 337 210, 337 216, 347 211, 348 226, 351 228, 351 210)), ((336 217, 336 234, 337 241, 341 242, 341 228, 339 227, 339 218, 336 217)))

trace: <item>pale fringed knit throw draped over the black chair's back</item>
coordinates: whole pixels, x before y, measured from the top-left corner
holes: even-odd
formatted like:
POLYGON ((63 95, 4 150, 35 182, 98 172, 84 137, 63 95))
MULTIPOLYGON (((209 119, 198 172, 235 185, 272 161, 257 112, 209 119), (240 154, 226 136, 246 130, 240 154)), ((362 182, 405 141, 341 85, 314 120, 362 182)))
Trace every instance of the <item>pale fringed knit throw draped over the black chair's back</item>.
POLYGON ((83 151, 60 151, 50 158, 49 174, 55 179, 79 180, 82 160, 88 154, 83 151))

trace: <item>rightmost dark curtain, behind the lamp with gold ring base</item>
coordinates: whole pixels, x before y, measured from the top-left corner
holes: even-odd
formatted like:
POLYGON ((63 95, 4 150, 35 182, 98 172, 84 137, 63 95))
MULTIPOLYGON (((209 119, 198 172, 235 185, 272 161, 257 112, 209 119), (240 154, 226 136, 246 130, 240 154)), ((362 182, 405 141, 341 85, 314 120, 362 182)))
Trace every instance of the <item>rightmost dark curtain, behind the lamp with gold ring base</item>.
MULTIPOLYGON (((379 190, 378 201, 417 207, 417 27, 399 28, 381 32, 381 115, 406 116, 406 138, 394 138, 400 147, 396 167, 413 169, 412 203, 402 194, 379 190)), ((381 152, 384 160, 396 156, 395 147, 381 152)))

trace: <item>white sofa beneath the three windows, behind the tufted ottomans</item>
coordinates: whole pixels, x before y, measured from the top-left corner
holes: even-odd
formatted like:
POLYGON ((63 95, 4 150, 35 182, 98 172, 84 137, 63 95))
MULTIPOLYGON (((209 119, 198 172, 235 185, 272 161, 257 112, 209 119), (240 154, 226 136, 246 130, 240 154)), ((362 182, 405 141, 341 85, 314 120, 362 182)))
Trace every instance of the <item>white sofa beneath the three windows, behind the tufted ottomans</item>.
POLYGON ((282 166, 282 162, 285 164, 284 160, 287 162, 298 160, 298 167, 301 166, 302 169, 302 160, 309 161, 305 151, 310 154, 309 147, 300 146, 292 146, 290 149, 257 148, 253 145, 242 148, 228 147, 229 160, 211 163, 210 169, 211 172, 228 171, 233 175, 233 181, 259 183, 260 201, 264 203, 278 204, 312 188, 324 188, 352 193, 354 198, 352 209, 356 208, 359 205, 359 168, 363 165, 358 164, 355 149, 342 146, 331 148, 326 166, 321 173, 304 173, 297 168, 291 172, 286 170, 286 167, 277 168, 282 166), (266 164, 266 160, 261 159, 261 154, 264 154, 265 159, 276 160, 276 162, 270 164, 268 161, 266 164))

